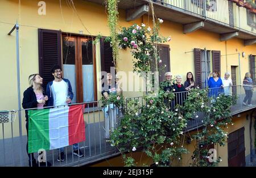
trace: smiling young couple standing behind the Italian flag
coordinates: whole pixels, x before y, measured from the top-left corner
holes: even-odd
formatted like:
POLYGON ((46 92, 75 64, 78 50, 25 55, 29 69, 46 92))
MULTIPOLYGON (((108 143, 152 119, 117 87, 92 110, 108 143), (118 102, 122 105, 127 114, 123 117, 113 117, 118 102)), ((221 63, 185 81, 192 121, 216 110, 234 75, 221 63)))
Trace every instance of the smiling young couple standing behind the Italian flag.
MULTIPOLYGON (((51 74, 54 80, 47 84, 46 92, 43 90, 43 78, 39 74, 32 74, 28 77, 30 87, 23 93, 22 107, 24 109, 38 108, 43 109, 43 106, 47 107, 64 107, 67 104, 71 104, 73 99, 73 92, 71 83, 68 79, 62 78, 62 70, 59 65, 52 66, 51 74)), ((26 113, 26 130, 28 136, 28 111, 26 113)), ((28 154, 28 144, 26 146, 28 154)), ((73 154, 79 157, 84 156, 81 149, 79 149, 78 143, 73 145, 73 154)), ((64 148, 59 149, 57 161, 64 162, 64 148)), ((34 158, 34 154, 28 154, 29 166, 36 167, 38 163, 34 158)), ((41 162, 40 166, 46 166, 45 162, 41 162)), ((51 163, 47 162, 47 166, 51 166, 51 163)))

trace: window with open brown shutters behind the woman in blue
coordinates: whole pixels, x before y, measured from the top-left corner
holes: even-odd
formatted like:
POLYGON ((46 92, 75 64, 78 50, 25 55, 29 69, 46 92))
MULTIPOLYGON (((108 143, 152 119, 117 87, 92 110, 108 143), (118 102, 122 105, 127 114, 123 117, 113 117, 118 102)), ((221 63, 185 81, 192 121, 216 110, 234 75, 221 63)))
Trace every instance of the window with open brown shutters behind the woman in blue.
MULTIPOLYGON (((195 79, 196 84, 205 88, 208 86, 207 77, 211 71, 211 57, 210 50, 206 49, 194 49, 194 58, 195 58, 195 79)), ((213 70, 221 70, 221 55, 220 51, 212 50, 212 66, 213 70)))

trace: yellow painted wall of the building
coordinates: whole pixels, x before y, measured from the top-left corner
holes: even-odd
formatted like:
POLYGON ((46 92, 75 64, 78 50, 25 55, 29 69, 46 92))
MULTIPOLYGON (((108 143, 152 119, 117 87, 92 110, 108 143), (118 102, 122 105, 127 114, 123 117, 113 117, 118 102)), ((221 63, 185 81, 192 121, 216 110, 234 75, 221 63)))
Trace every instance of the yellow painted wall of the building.
MULTIPOLYGON (((17 84, 16 84, 16 52, 15 52, 15 32, 11 36, 7 35, 13 28, 16 21, 19 23, 19 50, 20 50, 20 91, 28 87, 28 75, 39 72, 38 63, 38 28, 61 29, 62 32, 79 33, 83 31, 85 35, 102 36, 109 35, 107 16, 105 7, 82 0, 75 1, 76 10, 67 5, 66 1, 46 0, 46 15, 38 14, 38 1, 30 0, 2 0, 0 6, 0 40, 1 60, 0 71, 1 76, 1 92, 0 110, 11 110, 18 108, 17 100, 17 84)), ((125 11, 119 10, 119 26, 128 27, 133 23, 145 23, 152 27, 151 19, 148 15, 126 22, 125 11), (149 24, 147 24, 149 22, 149 24)), ((232 39, 225 43, 219 40, 216 33, 198 30, 193 33, 183 34, 183 26, 181 24, 167 22, 161 24, 160 34, 163 36, 172 36, 172 40, 166 44, 170 45, 170 64, 171 72, 174 75, 181 74, 183 82, 188 71, 195 73, 193 48, 201 48, 208 50, 221 50, 221 55, 233 53, 246 53, 246 57, 241 57, 241 78, 249 71, 249 54, 256 54, 256 45, 243 46, 240 39, 232 39), (185 53, 189 52, 189 53, 185 53)), ((129 50, 121 50, 118 61, 118 71, 124 71, 129 74, 133 70, 133 57, 129 50)), ((96 63, 97 71, 100 71, 100 46, 96 45, 96 63)), ((238 65, 238 54, 233 56, 221 56, 221 73, 230 71, 231 65, 238 65)), ((223 76, 223 75, 222 75, 223 76)), ((100 81, 99 76, 98 81, 100 81)), ((130 80, 130 78, 129 78, 130 80)), ((138 83, 134 78, 133 83, 138 83)), ((142 83, 142 82, 141 82, 142 83)), ((131 81, 129 84, 131 85, 131 81)), ((97 88, 100 88, 98 84, 97 88)), ((139 87, 142 90, 143 84, 139 87)), ((125 91, 126 97, 142 95, 142 92, 125 91)), ((98 92, 98 99, 100 98, 98 92)), ((21 99, 23 96, 21 96, 21 99)), ((14 136, 19 133, 18 118, 14 122, 14 136)), ((22 133, 26 134, 24 128, 24 112, 22 112, 22 133)), ((6 137, 10 137, 10 124, 5 126, 6 137)))

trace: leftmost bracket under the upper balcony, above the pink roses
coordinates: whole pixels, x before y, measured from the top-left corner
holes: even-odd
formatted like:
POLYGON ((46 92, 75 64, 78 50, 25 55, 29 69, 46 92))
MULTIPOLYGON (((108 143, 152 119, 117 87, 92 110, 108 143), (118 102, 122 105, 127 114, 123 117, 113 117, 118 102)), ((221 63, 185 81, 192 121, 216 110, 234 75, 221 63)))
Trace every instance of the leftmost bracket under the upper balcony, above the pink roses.
POLYGON ((148 13, 148 5, 142 5, 135 9, 128 9, 126 10, 126 21, 138 19, 146 13, 148 13))

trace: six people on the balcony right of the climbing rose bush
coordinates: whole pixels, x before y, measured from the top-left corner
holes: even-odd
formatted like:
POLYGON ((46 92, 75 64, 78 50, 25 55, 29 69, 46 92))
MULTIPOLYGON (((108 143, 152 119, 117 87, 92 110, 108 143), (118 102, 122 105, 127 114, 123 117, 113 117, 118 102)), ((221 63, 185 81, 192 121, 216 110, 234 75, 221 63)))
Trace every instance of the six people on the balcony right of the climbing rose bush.
MULTIPOLYGON (((175 99, 171 101, 171 106, 174 108, 176 104, 183 105, 183 101, 187 98, 187 92, 197 86, 193 79, 191 72, 187 73, 187 79, 182 84, 181 75, 176 75, 175 83, 172 80, 171 72, 167 72, 165 75, 166 80, 162 83, 164 91, 173 91, 175 93, 175 99)), ((226 72, 224 78, 220 78, 220 72, 214 70, 213 73, 208 75, 205 81, 205 86, 209 88, 209 97, 216 98, 219 94, 232 95, 232 79, 230 79, 230 73, 226 72)), ((253 96, 253 80, 250 78, 250 73, 245 74, 243 79, 243 88, 245 89, 245 98, 243 99, 243 105, 251 106, 251 98, 253 96), (246 104, 247 103, 247 104, 246 104)))

